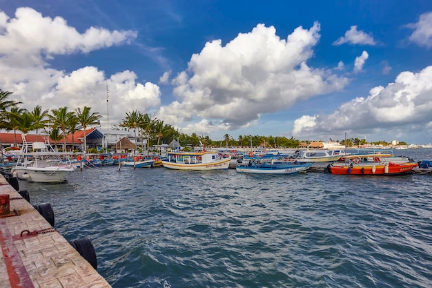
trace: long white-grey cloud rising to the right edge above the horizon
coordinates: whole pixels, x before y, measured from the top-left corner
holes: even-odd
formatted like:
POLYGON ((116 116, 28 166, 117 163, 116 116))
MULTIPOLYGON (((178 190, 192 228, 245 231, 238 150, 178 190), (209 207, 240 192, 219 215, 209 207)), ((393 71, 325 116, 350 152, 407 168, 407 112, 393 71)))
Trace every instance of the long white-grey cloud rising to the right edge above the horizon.
POLYGON ((331 115, 304 115, 296 119, 293 136, 341 135, 346 131, 373 133, 408 125, 422 128, 431 122, 430 79, 432 66, 420 73, 402 72, 394 83, 372 88, 367 97, 346 102, 331 115))

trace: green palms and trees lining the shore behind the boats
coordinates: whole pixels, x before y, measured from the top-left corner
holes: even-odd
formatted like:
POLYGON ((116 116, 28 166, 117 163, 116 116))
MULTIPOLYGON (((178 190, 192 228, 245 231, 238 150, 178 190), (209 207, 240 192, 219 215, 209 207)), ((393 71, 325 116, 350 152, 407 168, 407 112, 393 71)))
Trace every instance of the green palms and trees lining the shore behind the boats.
MULTIPOLYGON (((0 128, 6 129, 6 131, 14 131, 15 133, 15 145, 17 144, 16 132, 21 131, 22 133, 29 133, 30 131, 43 130, 50 138, 55 142, 63 140, 63 149, 66 149, 66 136, 84 130, 84 147, 86 147, 86 135, 85 131, 88 126, 92 126, 99 123, 101 115, 99 113, 92 113, 91 108, 84 106, 84 108, 77 108, 75 111, 69 111, 68 107, 64 106, 58 109, 52 109, 51 111, 43 110, 41 106, 36 106, 33 111, 27 111, 27 109, 19 108, 21 102, 9 100, 8 97, 11 92, 0 90, 0 128)), ((287 138, 283 136, 262 136, 262 135, 240 135, 237 140, 228 134, 224 135, 224 140, 214 141, 208 136, 199 136, 196 133, 187 135, 179 133, 170 124, 165 124, 164 121, 159 119, 152 119, 148 114, 141 113, 138 110, 127 112, 126 117, 121 122, 112 128, 119 130, 119 127, 127 128, 129 131, 133 130, 135 136, 135 145, 137 144, 137 138, 146 140, 147 147, 151 147, 155 144, 170 143, 172 140, 177 140, 181 146, 199 146, 200 141, 204 146, 220 146, 220 147, 232 147, 232 146, 266 146, 266 147, 286 147, 295 148, 299 147, 301 141, 294 139, 293 137, 287 138)), ((73 136, 72 136, 73 137, 73 136)), ((73 139, 72 139, 73 141, 73 139)), ((344 145, 345 140, 341 141, 344 145)), ((310 143, 310 141, 306 141, 310 143)), ((350 138, 346 140, 347 147, 365 145, 366 140, 359 138, 350 138)), ((375 145, 389 145, 388 142, 379 141, 372 142, 369 144, 375 145)), ((401 145, 405 142, 400 142, 401 145)))

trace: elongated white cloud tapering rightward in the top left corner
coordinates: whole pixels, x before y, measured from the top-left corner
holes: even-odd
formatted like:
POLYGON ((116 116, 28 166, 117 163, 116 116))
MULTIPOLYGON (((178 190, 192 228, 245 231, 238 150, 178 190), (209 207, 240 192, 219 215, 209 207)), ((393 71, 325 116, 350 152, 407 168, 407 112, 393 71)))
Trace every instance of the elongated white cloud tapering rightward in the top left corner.
POLYGON ((61 17, 43 17, 32 8, 18 8, 14 19, 5 21, 0 16, 0 53, 20 55, 70 54, 90 52, 124 42, 137 37, 134 31, 109 31, 105 28, 90 27, 83 34, 68 26, 61 17), (3 20, 2 20, 3 19, 3 20))

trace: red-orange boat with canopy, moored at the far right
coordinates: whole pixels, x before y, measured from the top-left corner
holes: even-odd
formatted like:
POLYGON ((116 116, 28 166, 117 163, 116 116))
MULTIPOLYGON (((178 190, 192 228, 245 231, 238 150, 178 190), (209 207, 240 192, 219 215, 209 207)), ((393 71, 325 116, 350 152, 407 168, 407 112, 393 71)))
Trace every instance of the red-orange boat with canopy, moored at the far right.
POLYGON ((382 160, 382 154, 346 156, 345 162, 333 162, 327 171, 337 175, 407 175, 418 163, 389 162, 382 160), (372 159, 372 161, 370 160, 372 159))

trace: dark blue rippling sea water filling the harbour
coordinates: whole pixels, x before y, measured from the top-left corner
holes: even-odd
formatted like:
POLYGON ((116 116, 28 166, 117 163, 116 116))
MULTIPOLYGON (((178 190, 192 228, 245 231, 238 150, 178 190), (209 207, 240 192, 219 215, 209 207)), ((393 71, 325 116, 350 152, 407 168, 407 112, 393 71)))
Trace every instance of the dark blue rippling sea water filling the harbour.
POLYGON ((20 188, 116 288, 432 287, 431 175, 111 166, 20 188))

